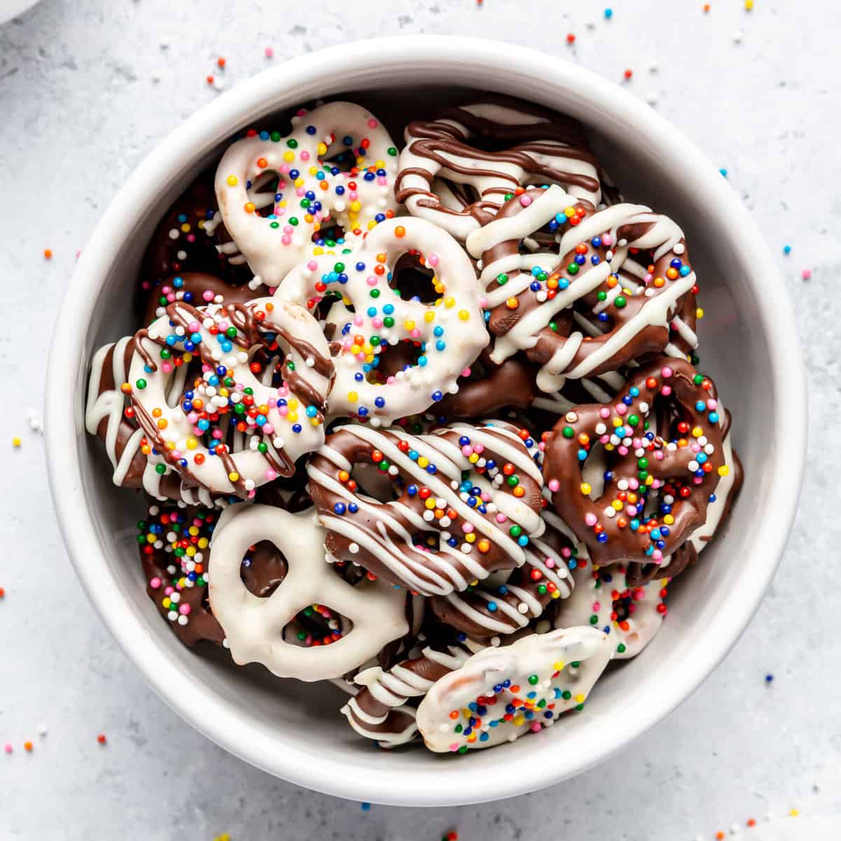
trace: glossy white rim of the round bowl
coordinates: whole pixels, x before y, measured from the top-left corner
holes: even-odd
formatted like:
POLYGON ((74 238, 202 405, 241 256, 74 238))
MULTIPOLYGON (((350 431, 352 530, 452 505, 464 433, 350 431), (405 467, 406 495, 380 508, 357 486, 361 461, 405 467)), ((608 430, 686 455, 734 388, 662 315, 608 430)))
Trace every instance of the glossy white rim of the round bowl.
MULTIPOLYGON (((520 46, 515 49, 516 60, 511 61, 510 70, 522 82, 544 88, 574 87, 582 97, 603 109, 603 113, 609 111, 615 119, 626 123, 639 119, 643 110, 648 133, 656 138, 653 143, 664 149, 680 150, 681 167, 692 182, 692 188, 701 191, 706 200, 716 202, 728 215, 733 230, 738 230, 740 249, 752 255, 754 276, 764 278, 766 294, 759 296, 759 316, 764 335, 774 336, 774 341, 770 342, 773 375, 770 390, 775 421, 780 429, 785 421, 785 448, 776 448, 775 464, 770 471, 773 479, 765 489, 765 522, 761 542, 751 557, 744 561, 745 574, 738 579, 737 587, 721 606, 716 633, 710 635, 705 646, 698 648, 691 664, 681 664, 683 674, 680 680, 659 686, 658 706, 634 710, 632 716, 623 720, 621 732, 609 728, 611 732, 607 733, 606 728, 600 728, 602 733, 594 740, 593 750, 586 757, 564 757, 563 754, 558 755, 558 751, 553 753, 544 747, 547 755, 540 758, 542 761, 539 764, 533 756, 527 764, 522 759, 517 760, 523 763, 519 769, 522 773, 511 773, 517 769, 506 763, 505 773, 463 774, 458 787, 447 787, 441 785, 441 780, 436 780, 436 775, 427 775, 428 779, 421 775, 411 775, 410 780, 400 779, 399 775, 389 773, 386 762, 381 769, 366 769, 365 774, 359 774, 353 773, 354 769, 347 767, 346 763, 330 757, 322 757, 319 763, 314 763, 312 754, 297 748, 271 753, 267 751, 257 728, 231 717, 230 709, 214 690, 190 680, 182 669, 177 668, 177 664, 161 658, 153 637, 144 627, 144 621, 130 610, 126 596, 110 574, 93 519, 87 508, 80 505, 84 493, 77 442, 80 436, 84 436, 84 430, 81 420, 77 420, 76 442, 69 446, 64 431, 66 413, 68 407, 78 401, 78 359, 84 352, 85 335, 82 325, 88 324, 93 302, 111 270, 120 244, 124 242, 128 227, 123 220, 130 218, 132 209, 144 206, 144 197, 149 198, 157 191, 162 173, 174 176, 182 162, 189 159, 191 149, 195 155, 197 137, 214 136, 221 140, 230 135, 231 126, 238 127, 248 119, 249 114, 259 111, 267 98, 277 98, 278 91, 286 87, 304 88, 319 74, 322 79, 325 78, 325 71, 314 70, 313 56, 284 61, 241 82, 235 89, 199 108, 156 145, 124 182, 93 230, 66 288, 56 320, 45 393, 47 469, 67 552, 88 598, 148 684, 182 718, 230 753, 272 775, 315 791, 384 804, 450 806, 535 791, 579 774, 606 759, 674 711, 733 647, 759 607, 775 574, 796 513, 806 458, 806 376, 785 287, 757 225, 711 161, 653 109, 591 71, 537 50, 520 46), (773 288, 773 294, 768 294, 769 286, 773 288), (195 712, 197 710, 202 711, 200 717, 195 712), (352 773, 325 774, 325 767, 331 763, 336 770, 352 773)), ((511 50, 511 45, 494 40, 454 35, 409 35, 356 41, 320 50, 318 66, 329 66, 331 76, 341 75, 343 70, 348 73, 388 71, 418 65, 424 66, 426 71, 431 63, 434 63, 436 72, 447 69, 453 72, 464 67, 491 71, 498 69, 496 56, 511 50)), ((301 98, 306 97, 301 94, 301 98)), ((500 764, 500 770, 502 767, 500 764)))

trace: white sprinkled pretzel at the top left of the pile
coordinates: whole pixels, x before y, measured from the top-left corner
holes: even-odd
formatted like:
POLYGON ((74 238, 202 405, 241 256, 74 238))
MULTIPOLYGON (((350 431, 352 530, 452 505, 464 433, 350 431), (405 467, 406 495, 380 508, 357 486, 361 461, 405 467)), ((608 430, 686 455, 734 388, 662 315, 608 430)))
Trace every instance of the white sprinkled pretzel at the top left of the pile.
POLYGON ((304 258, 315 231, 332 224, 347 232, 368 230, 375 216, 396 209, 396 150, 373 114, 352 103, 334 102, 298 114, 292 124, 292 133, 278 140, 264 132, 236 141, 216 171, 225 228, 256 277, 271 287, 304 258), (362 144, 369 145, 362 149, 362 144), (342 149, 355 153, 355 169, 331 172, 325 159, 342 149), (277 172, 280 182, 274 213, 264 218, 248 189, 265 172, 277 172), (302 207, 302 201, 309 205, 302 207))

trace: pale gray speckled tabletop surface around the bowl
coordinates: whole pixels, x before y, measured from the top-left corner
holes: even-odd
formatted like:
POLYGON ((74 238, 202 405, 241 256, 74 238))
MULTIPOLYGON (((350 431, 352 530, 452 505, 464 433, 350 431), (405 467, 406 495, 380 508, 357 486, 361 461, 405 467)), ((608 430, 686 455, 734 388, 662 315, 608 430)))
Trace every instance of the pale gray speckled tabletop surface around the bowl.
POLYGON ((604 0, 485 0, 482 8, 391 0, 358 11, 324 0, 311 17, 305 4, 277 0, 43 0, 0 27, 0 446, 15 480, 0 521, 0 744, 14 748, 0 754, 0 838, 426 839, 450 828, 467 841, 547 832, 569 841, 712 838, 750 816, 838 799, 837 785, 830 781, 828 794, 824 780, 841 747, 833 670, 841 642, 833 588, 823 581, 833 580, 826 571, 838 563, 841 537, 833 514, 841 457, 825 443, 841 413, 841 246, 833 236, 841 12, 830 0, 807 10, 755 0, 751 13, 737 0, 713 0, 706 15, 696 0, 611 5, 608 22, 604 0), (569 31, 574 47, 565 43, 569 31), (217 56, 228 60, 230 87, 265 66, 267 45, 281 61, 358 37, 419 32, 504 37, 617 81, 633 69, 632 91, 656 98, 727 168, 780 254, 811 378, 812 431, 800 517, 773 589, 690 701, 576 780, 424 816, 361 812, 274 780, 215 748, 152 695, 66 562, 43 441, 26 416, 41 406, 50 329, 77 249, 126 173, 214 97, 204 77, 217 56), (55 252, 50 262, 46 247, 55 252), (801 278, 804 268, 811 279, 801 278), (13 452, 16 435, 23 446, 13 452))

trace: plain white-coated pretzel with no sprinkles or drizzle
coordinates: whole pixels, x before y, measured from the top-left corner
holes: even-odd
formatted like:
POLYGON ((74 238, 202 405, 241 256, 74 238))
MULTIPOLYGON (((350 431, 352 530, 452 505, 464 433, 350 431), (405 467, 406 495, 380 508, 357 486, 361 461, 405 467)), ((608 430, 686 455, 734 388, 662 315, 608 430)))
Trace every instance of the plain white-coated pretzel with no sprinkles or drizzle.
POLYGON ((368 580, 354 587, 325 561, 324 532, 311 510, 294 515, 269 505, 230 505, 214 530, 210 558, 210 606, 240 665, 261 663, 278 677, 298 680, 338 678, 409 630, 405 592, 368 580), (249 592, 240 577, 242 558, 262 540, 288 563, 286 577, 266 599, 249 592), (352 630, 327 646, 285 642, 283 628, 315 603, 351 621, 352 630))

